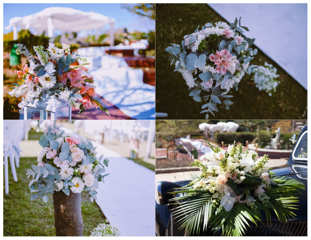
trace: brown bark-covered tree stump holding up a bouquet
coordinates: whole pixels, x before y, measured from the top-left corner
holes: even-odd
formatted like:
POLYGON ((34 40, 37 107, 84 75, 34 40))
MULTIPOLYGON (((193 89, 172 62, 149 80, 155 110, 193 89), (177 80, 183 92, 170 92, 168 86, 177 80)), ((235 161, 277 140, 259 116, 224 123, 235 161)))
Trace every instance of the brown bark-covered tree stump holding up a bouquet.
POLYGON ((53 193, 56 236, 83 236, 81 193, 53 193))

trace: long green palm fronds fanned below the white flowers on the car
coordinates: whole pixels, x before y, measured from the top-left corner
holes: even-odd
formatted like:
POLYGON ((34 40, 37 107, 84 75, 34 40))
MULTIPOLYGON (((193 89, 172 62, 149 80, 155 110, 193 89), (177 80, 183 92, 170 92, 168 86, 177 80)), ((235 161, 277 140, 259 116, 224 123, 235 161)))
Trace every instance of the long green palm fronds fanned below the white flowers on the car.
MULTIPOLYGON (((272 211, 276 213, 280 222, 287 222, 288 219, 294 218, 295 213, 292 210, 297 209, 299 202, 297 196, 300 190, 305 189, 304 184, 295 179, 275 178, 285 182, 272 184, 265 192, 269 196, 267 201, 271 207, 265 207, 257 197, 255 201, 258 209, 265 213, 267 223, 271 223, 272 211)), ((190 235, 212 228, 214 231, 220 229, 223 236, 243 236, 250 224, 257 226, 262 219, 261 211, 254 213, 246 204, 239 202, 234 203, 232 209, 227 212, 220 207, 219 199, 213 199, 208 190, 194 190, 186 186, 172 193, 186 193, 170 201, 176 205, 172 217, 179 218, 180 229, 188 231, 190 235)))

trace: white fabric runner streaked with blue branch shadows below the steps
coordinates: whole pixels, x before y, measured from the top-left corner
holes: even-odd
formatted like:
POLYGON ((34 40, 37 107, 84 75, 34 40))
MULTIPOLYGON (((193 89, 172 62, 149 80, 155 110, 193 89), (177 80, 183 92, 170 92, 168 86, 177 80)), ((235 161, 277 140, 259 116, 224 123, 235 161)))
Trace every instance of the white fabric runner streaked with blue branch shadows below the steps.
POLYGON ((95 92, 133 119, 155 119, 156 88, 143 83, 142 69, 94 69, 95 92))

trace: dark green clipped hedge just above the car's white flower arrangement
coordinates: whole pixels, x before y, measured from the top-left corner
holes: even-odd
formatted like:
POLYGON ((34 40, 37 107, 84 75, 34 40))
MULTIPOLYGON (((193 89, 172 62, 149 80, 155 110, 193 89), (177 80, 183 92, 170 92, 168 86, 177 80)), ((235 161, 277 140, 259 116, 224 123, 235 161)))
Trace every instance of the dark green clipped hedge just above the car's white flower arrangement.
POLYGON ((225 133, 216 133, 215 141, 219 144, 224 142, 224 144, 232 144, 234 141, 237 143, 240 142, 245 144, 246 141, 251 143, 256 137, 256 133, 253 132, 225 132, 225 133))

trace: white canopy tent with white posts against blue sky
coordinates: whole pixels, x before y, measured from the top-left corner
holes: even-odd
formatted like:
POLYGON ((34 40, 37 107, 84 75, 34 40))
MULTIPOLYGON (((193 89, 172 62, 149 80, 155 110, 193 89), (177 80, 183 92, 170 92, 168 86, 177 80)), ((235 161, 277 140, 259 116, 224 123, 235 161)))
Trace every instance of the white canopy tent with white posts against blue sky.
POLYGON ((13 39, 18 38, 17 27, 35 29, 38 34, 45 31, 48 37, 54 37, 54 30, 80 32, 82 30, 100 30, 110 25, 110 46, 114 45, 115 19, 96 12, 83 12, 70 7, 48 7, 44 10, 25 16, 13 17, 6 30, 13 28, 13 39))

